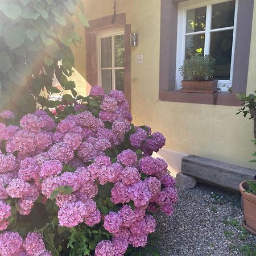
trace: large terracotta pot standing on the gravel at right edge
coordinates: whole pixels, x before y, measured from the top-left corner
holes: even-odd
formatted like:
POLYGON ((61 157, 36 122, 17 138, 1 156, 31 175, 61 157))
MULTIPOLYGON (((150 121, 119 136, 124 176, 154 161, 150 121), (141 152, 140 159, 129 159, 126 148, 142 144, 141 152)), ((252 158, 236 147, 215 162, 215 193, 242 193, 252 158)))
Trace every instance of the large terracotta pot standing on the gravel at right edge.
MULTIPOLYGON (((251 180, 256 183, 256 180, 251 180)), ((256 234, 256 195, 245 192, 249 188, 246 181, 242 181, 239 190, 243 200, 243 213, 245 214, 245 222, 243 225, 251 233, 256 234)))

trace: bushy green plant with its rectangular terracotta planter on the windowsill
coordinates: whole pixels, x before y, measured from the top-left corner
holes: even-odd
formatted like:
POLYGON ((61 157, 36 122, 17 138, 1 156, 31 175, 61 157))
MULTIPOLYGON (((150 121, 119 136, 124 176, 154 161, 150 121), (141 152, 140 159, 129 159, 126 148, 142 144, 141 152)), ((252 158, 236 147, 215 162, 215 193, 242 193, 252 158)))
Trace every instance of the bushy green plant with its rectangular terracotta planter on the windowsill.
POLYGON ((180 92, 214 93, 218 80, 212 80, 216 60, 210 55, 195 55, 184 60, 180 67, 182 89, 180 92))

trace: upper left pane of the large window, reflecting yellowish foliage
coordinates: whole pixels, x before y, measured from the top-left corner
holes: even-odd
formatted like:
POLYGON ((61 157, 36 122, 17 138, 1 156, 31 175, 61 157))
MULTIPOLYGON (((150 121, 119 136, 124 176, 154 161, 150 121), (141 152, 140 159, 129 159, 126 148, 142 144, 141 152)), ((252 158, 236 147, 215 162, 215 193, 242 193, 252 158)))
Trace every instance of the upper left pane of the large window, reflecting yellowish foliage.
POLYGON ((204 6, 187 11, 187 33, 205 30, 206 9, 204 6))

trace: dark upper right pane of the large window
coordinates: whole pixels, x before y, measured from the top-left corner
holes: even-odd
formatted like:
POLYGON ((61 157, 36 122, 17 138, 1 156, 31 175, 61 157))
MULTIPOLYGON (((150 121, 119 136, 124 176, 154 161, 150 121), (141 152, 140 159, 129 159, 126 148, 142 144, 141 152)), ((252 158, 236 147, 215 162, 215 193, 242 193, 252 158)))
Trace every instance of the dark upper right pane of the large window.
POLYGON ((235 2, 229 1, 212 6, 212 29, 234 26, 235 2))

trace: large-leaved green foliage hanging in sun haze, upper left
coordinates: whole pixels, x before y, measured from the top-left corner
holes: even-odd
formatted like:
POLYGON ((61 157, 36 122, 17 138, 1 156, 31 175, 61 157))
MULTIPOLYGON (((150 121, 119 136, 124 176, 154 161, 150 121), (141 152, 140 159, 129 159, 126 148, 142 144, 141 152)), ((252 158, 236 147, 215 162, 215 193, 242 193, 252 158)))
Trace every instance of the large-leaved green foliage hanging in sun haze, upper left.
POLYGON ((51 105, 39 94, 45 89, 48 95, 62 93, 52 86, 54 76, 76 96, 75 83, 67 77, 74 66, 70 46, 81 42, 73 16, 89 26, 83 10, 81 0, 0 2, 0 109, 22 116, 35 110, 36 101, 51 105))

